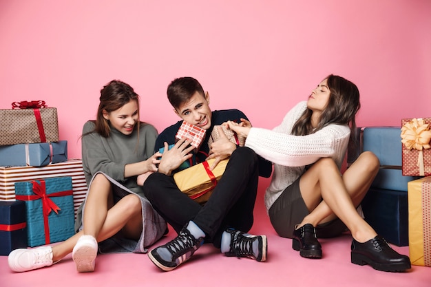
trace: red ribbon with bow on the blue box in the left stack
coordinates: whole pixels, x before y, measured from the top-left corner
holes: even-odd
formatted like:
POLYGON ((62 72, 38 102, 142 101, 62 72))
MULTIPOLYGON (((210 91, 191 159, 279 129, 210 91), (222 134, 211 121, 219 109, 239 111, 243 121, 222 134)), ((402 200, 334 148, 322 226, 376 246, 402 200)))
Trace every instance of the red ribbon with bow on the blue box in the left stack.
POLYGON ((51 211, 59 214, 59 206, 57 206, 50 198, 57 196, 73 195, 73 191, 59 191, 56 193, 46 194, 45 180, 32 180, 34 195, 15 195, 17 200, 30 201, 30 200, 42 200, 42 211, 43 211, 43 226, 45 229, 45 244, 50 243, 50 224, 48 223, 48 215, 51 211))

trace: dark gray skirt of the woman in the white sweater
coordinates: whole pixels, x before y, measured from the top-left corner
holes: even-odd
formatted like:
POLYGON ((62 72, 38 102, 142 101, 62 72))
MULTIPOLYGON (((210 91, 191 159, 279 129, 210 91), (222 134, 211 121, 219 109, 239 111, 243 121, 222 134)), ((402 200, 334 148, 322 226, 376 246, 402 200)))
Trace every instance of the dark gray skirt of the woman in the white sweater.
MULTIPOLYGON (((310 213, 299 189, 299 179, 282 191, 268 212, 271 224, 281 237, 292 238, 295 225, 310 213)), ((336 237, 344 231, 346 225, 338 218, 316 226, 318 238, 336 237)))

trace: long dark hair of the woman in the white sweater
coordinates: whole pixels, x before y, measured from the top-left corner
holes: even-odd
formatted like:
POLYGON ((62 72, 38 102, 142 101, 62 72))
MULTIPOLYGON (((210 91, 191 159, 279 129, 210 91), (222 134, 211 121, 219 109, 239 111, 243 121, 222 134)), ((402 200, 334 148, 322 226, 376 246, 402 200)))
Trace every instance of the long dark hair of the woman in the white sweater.
POLYGON ((355 116, 361 108, 359 103, 359 89, 357 86, 341 76, 330 74, 327 78, 330 92, 328 104, 320 114, 317 127, 311 125, 311 109, 306 109, 297 120, 292 129, 292 134, 305 136, 313 134, 330 124, 349 125, 350 139, 356 138, 355 116))

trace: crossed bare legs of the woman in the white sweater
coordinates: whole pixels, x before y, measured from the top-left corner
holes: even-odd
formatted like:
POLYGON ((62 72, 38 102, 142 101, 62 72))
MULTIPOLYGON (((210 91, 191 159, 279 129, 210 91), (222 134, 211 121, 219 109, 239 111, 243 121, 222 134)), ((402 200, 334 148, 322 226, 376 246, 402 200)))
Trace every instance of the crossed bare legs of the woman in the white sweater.
POLYGON ((355 206, 366 195, 378 169, 379 160, 370 152, 362 153, 343 176, 330 158, 322 158, 313 164, 299 182, 302 197, 311 213, 298 226, 306 223, 317 226, 338 216, 358 242, 375 237, 377 234, 357 213, 355 206))

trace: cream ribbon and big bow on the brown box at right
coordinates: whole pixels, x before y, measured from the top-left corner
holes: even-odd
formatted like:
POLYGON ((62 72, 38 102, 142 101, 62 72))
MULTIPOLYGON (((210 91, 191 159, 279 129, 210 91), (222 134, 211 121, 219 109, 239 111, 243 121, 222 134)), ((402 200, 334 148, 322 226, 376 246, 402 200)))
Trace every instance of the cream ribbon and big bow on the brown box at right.
POLYGON ((423 166, 423 149, 430 149, 431 131, 430 125, 425 124, 422 118, 413 118, 410 122, 401 127, 401 142, 411 150, 417 149, 419 156, 417 166, 419 167, 419 176, 425 176, 425 167, 423 166))

